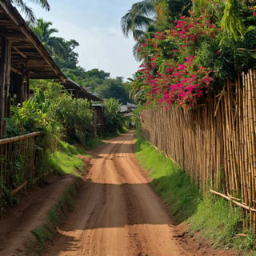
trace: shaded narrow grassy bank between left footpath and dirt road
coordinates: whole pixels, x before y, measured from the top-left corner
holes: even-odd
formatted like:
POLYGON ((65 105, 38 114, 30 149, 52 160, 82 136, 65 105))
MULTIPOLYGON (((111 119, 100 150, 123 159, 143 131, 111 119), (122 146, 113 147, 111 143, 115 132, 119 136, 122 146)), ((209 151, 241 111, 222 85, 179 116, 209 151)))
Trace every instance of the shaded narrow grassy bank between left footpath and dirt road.
POLYGON ((74 182, 66 188, 62 198, 50 209, 42 226, 31 231, 33 237, 29 238, 25 245, 27 255, 36 256, 46 252, 47 246, 58 234, 57 227, 65 222, 67 214, 73 210, 81 184, 81 178, 74 178, 74 182))

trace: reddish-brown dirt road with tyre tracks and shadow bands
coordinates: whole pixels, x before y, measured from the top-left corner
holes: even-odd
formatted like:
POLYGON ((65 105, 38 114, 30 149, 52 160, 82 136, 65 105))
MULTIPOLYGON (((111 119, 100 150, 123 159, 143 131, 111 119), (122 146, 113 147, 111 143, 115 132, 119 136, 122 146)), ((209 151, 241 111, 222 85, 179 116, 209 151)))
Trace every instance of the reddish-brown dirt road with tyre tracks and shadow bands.
MULTIPOLYGON (((174 218, 151 190, 145 171, 134 158, 133 146, 130 132, 90 152, 94 158, 90 160, 90 171, 84 178, 74 212, 58 228, 58 238, 46 255, 238 255, 211 250, 183 235, 183 226, 175 226, 174 218)), ((52 196, 58 195, 53 192, 52 196)), ((40 203, 48 204, 47 200, 44 198, 40 203)), ((37 207, 34 211, 37 212, 37 207)), ((11 238, 21 235, 18 233, 22 228, 7 236, 9 246, 11 238)), ((0 255, 6 255, 1 253, 0 247, 0 255)))

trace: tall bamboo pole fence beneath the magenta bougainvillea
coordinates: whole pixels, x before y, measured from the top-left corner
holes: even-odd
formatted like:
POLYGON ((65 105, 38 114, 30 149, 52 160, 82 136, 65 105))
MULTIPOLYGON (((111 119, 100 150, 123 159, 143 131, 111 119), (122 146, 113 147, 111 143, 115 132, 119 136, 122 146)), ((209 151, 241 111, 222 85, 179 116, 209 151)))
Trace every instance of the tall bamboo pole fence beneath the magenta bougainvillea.
POLYGON ((255 232, 256 70, 226 81, 194 110, 170 106, 142 114, 146 139, 182 166, 203 193, 210 190, 240 206, 244 226, 255 232))

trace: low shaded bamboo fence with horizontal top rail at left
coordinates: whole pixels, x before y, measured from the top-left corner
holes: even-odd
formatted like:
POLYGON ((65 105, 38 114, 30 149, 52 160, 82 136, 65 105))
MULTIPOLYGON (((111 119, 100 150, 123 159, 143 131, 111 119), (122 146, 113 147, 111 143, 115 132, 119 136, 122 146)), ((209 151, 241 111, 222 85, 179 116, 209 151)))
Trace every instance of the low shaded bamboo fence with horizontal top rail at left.
POLYGON ((6 201, 38 176, 40 132, 0 140, 0 218, 6 201))

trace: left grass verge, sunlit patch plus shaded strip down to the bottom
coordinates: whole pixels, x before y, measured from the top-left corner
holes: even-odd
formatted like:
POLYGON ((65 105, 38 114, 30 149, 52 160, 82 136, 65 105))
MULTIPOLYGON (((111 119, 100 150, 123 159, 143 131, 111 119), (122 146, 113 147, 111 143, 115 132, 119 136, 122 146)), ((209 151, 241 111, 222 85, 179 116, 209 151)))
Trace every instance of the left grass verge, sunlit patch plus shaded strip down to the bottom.
POLYGON ((32 230, 32 238, 26 242, 26 254, 40 255, 44 254, 47 246, 58 234, 57 227, 62 226, 66 216, 73 210, 74 203, 78 196, 79 187, 82 185, 82 174, 85 174, 85 163, 78 155, 86 155, 82 147, 70 145, 59 139, 56 140, 57 150, 49 153, 49 165, 55 174, 74 176, 73 183, 66 188, 62 198, 58 203, 51 207, 47 214, 46 220, 41 226, 32 230))

